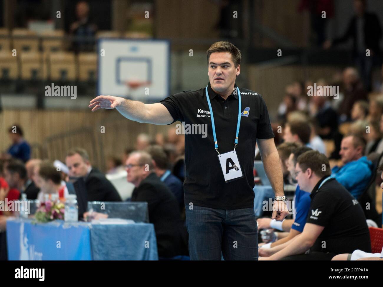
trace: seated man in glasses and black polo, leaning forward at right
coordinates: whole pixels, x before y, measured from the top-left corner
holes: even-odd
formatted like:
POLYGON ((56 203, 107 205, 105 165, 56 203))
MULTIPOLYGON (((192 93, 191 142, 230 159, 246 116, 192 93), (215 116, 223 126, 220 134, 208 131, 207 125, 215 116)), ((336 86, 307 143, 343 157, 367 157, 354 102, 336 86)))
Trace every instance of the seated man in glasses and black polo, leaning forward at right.
POLYGON ((355 249, 371 252, 362 207, 330 177, 327 157, 318 151, 306 151, 297 159, 295 174, 301 189, 311 192, 306 225, 300 235, 279 245, 282 249, 260 260, 331 260, 336 254, 355 249))

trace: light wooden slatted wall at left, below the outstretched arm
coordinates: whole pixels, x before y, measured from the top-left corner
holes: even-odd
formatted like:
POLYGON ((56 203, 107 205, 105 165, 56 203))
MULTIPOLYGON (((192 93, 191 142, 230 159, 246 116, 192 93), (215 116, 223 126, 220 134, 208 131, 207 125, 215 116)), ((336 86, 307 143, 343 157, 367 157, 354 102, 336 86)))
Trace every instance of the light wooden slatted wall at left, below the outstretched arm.
MULTIPOLYGON (((156 133, 166 134, 168 125, 149 125, 129 121, 115 110, 4 110, 0 113, 0 151, 6 151, 11 142, 8 137, 8 128, 14 124, 23 128, 25 139, 34 146, 43 146, 47 138, 63 133, 89 128, 92 136, 86 130, 72 136, 62 137, 48 146, 49 159, 64 160, 67 150, 76 146, 92 149, 92 140, 97 141, 95 153, 90 154, 91 159, 97 159, 95 165, 102 168, 105 162, 99 161, 100 155, 105 158, 109 155, 120 157, 125 148, 134 148, 139 133, 149 133, 153 137, 156 133), (105 133, 101 133, 101 126, 105 126, 105 133), (101 143, 101 144, 100 144, 101 143)), ((173 124, 175 125, 175 124, 173 124)), ((34 154, 39 151, 34 148, 34 154)))

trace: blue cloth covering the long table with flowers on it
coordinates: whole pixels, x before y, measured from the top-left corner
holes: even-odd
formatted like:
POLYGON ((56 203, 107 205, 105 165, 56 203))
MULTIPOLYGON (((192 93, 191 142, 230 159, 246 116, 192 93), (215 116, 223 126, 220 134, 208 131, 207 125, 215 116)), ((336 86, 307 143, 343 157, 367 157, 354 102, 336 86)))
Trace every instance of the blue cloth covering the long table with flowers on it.
POLYGON ((9 260, 158 260, 154 225, 7 220, 9 260))

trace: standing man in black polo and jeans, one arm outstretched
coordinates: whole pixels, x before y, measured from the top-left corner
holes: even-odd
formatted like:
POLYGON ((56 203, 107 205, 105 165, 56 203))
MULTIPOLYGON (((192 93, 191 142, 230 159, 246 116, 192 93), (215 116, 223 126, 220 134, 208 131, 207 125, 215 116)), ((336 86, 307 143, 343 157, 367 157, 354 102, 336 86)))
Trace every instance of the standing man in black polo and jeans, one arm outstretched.
POLYGON ((288 214, 283 177, 267 107, 261 95, 237 87, 241 52, 216 42, 207 51, 210 82, 202 89, 144 104, 98 96, 89 107, 116 108, 141 123, 185 126, 184 182, 189 254, 192 260, 258 258, 254 215, 255 142, 277 196, 272 218, 288 214), (207 130, 207 133, 206 133, 207 130))

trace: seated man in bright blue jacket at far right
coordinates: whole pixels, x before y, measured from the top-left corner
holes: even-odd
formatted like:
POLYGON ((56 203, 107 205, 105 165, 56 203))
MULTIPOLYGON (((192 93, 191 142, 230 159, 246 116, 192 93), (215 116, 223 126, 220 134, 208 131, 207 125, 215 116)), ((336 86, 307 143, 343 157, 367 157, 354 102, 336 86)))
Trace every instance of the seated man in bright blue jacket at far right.
POLYGON ((342 184, 356 199, 362 195, 372 174, 372 162, 363 156, 365 140, 358 135, 346 136, 340 145, 342 167, 332 168, 331 177, 342 184))

